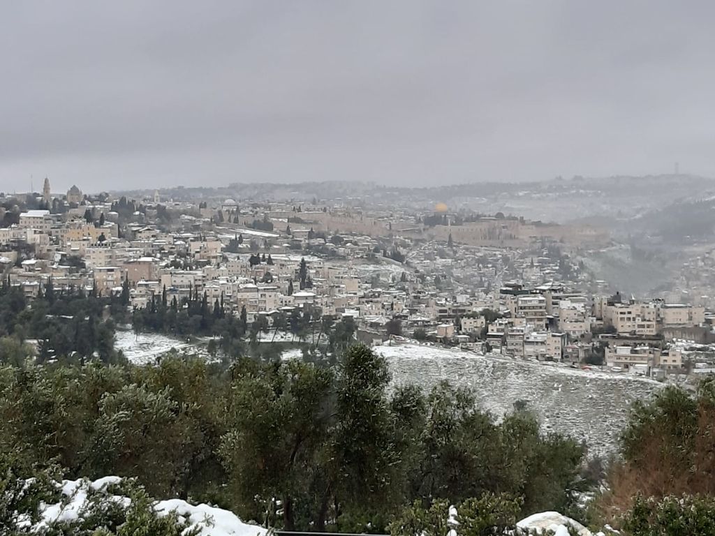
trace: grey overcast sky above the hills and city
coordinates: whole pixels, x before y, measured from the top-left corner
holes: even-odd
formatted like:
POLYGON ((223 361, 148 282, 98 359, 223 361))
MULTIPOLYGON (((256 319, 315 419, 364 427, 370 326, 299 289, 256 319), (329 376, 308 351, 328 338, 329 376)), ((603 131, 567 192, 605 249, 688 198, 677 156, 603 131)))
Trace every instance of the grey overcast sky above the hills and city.
POLYGON ((713 1, 6 1, 0 189, 715 176, 713 1))

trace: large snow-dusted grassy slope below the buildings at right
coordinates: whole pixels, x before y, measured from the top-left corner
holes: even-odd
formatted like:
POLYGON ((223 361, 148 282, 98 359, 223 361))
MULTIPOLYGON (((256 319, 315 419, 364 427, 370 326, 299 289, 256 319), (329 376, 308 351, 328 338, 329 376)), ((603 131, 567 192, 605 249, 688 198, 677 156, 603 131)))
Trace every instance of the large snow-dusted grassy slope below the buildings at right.
POLYGON ((390 363, 393 384, 430 389, 442 379, 468 387, 478 404, 493 415, 526 400, 543 430, 583 438, 590 453, 607 455, 626 423, 628 407, 661 387, 651 379, 608 372, 585 372, 503 357, 418 344, 377 347, 390 363))

